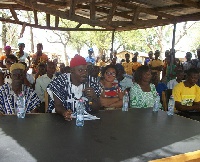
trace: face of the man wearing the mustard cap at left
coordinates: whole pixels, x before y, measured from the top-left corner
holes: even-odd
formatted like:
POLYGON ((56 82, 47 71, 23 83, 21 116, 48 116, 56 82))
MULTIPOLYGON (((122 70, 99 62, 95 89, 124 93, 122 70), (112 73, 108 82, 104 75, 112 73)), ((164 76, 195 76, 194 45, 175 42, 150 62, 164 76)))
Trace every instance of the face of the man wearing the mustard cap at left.
POLYGON ((25 72, 21 69, 15 69, 11 72, 12 83, 20 87, 24 83, 25 72))

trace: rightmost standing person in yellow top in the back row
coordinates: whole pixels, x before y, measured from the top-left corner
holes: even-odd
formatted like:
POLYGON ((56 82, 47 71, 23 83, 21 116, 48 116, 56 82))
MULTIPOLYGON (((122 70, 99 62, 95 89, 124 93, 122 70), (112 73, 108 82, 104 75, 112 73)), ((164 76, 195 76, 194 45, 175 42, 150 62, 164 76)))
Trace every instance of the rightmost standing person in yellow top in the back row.
POLYGON ((154 55, 155 55, 155 59, 153 59, 149 62, 149 67, 153 73, 154 72, 157 73, 158 79, 160 81, 160 72, 162 71, 162 68, 163 68, 163 62, 162 62, 162 60, 159 59, 160 51, 156 50, 154 55))

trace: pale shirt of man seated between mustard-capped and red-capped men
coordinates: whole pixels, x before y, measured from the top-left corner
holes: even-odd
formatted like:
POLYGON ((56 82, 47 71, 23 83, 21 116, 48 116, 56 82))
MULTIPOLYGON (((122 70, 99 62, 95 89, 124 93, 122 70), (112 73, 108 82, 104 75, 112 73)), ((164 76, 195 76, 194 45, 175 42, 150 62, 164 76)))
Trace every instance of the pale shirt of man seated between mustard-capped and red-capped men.
MULTIPOLYGON (((53 75, 52 79, 54 79, 56 76, 53 75)), ((44 102, 44 93, 47 90, 47 86, 51 82, 51 80, 47 74, 44 74, 36 79, 35 84, 35 92, 37 93, 38 97, 40 98, 41 102, 44 102)))

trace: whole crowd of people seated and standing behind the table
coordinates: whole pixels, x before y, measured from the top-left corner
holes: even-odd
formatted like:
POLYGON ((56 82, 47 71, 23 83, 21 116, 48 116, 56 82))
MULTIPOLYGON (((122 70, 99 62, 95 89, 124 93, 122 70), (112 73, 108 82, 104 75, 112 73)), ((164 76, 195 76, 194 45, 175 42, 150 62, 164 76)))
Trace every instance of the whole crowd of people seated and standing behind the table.
POLYGON ((83 99, 86 111, 99 109, 120 109, 123 96, 128 92, 131 108, 153 107, 160 95, 159 107, 162 109, 162 92, 171 90, 177 112, 199 111, 200 109, 200 48, 197 59, 186 53, 186 61, 181 63, 173 58, 172 52, 165 52, 161 60, 160 51, 150 51, 144 63, 138 62, 138 52, 133 58, 126 53, 123 59, 113 51, 106 60, 95 60, 93 49, 88 57, 75 55, 70 66, 50 61, 42 52, 43 46, 37 44, 37 52, 30 56, 24 52, 25 44, 19 43, 19 50, 11 53, 11 47, 4 48, 5 55, 0 60, 0 114, 14 114, 16 96, 23 94, 29 112, 56 112, 71 120, 78 101, 83 99), (132 61, 131 61, 132 60, 132 61), (173 62, 172 62, 173 61, 173 62), (27 73, 29 68, 32 74, 27 73), (49 95, 48 109, 45 109, 45 93, 49 95))

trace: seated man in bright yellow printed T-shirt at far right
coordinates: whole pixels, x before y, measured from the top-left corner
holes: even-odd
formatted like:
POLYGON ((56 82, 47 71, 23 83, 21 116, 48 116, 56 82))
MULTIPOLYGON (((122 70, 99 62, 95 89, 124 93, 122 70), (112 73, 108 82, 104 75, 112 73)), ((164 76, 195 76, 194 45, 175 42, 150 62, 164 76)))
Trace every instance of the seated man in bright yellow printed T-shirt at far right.
POLYGON ((187 79, 178 83, 172 95, 175 100, 175 108, 178 111, 200 111, 200 87, 196 85, 199 73, 191 68, 187 71, 187 79))

